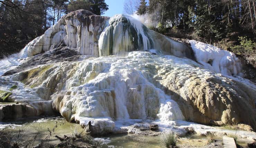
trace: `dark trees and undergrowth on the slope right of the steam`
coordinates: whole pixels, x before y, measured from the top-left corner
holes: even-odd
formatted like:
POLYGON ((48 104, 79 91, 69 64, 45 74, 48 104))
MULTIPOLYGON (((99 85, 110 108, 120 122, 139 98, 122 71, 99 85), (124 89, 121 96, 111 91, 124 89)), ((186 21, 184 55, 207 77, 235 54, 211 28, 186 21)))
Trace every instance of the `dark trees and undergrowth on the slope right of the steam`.
POLYGON ((155 23, 152 29, 222 47, 256 66, 256 0, 131 1, 155 23))

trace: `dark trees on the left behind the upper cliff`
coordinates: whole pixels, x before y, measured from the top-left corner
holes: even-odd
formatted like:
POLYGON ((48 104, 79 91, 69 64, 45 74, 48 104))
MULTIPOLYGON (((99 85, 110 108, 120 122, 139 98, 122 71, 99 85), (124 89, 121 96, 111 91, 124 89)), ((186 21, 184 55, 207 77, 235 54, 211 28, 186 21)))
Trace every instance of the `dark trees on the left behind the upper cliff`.
POLYGON ((0 58, 20 51, 62 15, 78 9, 101 15, 108 5, 104 0, 0 0, 0 58))

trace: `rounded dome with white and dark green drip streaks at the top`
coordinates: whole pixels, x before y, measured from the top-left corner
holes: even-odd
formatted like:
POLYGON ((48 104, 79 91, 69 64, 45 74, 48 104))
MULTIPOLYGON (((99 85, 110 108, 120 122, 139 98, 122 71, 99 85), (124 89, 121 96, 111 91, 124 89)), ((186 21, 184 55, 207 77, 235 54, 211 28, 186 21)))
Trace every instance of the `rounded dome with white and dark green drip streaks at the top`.
POLYGON ((122 51, 149 50, 153 47, 146 26, 124 14, 112 17, 99 39, 100 56, 115 55, 122 51))

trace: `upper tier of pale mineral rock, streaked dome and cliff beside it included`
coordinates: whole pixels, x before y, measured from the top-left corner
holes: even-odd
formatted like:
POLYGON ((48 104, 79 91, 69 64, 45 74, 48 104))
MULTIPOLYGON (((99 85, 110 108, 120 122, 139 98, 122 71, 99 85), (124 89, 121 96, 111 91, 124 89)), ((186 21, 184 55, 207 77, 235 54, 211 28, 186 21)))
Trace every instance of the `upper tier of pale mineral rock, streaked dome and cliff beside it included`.
POLYGON ((33 56, 53 50, 61 42, 75 48, 81 55, 94 57, 157 48, 165 54, 194 58, 190 47, 149 30, 129 15, 109 18, 87 10, 64 15, 44 35, 31 41, 23 53, 33 56))

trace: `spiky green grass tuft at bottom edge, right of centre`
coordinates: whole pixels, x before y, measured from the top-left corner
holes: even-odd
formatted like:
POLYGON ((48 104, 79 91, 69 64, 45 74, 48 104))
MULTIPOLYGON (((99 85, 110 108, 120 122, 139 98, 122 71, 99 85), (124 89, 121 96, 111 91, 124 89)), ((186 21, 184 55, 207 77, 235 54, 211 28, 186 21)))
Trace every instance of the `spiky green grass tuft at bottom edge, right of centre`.
POLYGON ((175 135, 174 132, 171 131, 171 132, 167 133, 166 135, 163 135, 162 143, 166 148, 176 147, 177 136, 175 135))

